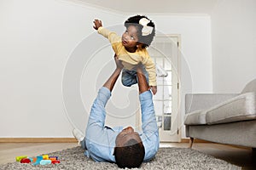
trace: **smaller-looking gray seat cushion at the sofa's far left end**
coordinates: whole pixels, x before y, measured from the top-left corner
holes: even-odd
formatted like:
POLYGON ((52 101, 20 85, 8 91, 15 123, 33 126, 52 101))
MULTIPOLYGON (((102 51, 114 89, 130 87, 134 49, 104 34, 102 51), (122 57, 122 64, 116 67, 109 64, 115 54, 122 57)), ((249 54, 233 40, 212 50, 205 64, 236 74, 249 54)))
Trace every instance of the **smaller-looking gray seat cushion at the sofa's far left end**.
POLYGON ((192 111, 185 117, 185 125, 207 124, 206 111, 192 111))

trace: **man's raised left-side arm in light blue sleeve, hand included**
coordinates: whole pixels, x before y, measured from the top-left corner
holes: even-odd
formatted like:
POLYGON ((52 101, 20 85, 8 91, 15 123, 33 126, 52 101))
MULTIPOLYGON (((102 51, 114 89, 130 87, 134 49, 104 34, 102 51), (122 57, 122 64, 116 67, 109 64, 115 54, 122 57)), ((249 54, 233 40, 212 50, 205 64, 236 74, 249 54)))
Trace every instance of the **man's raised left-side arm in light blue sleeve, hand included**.
POLYGON ((116 69, 113 74, 99 89, 96 99, 91 106, 90 116, 85 133, 85 144, 88 152, 86 152, 94 161, 114 161, 112 154, 110 155, 111 147, 108 145, 108 131, 105 128, 106 109, 105 106, 110 99, 113 86, 119 77, 122 70, 122 65, 119 59, 115 57, 116 69))

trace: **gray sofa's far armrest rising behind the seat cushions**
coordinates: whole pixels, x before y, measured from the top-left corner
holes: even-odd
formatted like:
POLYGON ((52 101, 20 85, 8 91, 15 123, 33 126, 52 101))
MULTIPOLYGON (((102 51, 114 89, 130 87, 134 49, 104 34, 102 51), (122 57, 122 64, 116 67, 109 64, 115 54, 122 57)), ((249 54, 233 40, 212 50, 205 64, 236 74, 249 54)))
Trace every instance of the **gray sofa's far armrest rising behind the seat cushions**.
POLYGON ((214 105, 231 99, 239 94, 186 94, 185 113, 198 110, 206 110, 214 105))

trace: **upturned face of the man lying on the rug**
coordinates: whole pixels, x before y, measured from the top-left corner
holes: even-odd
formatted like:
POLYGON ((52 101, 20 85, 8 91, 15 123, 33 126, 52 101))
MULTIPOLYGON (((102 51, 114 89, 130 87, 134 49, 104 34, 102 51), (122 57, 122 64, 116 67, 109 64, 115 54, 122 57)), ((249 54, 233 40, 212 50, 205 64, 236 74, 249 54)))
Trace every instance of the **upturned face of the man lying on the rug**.
POLYGON ((117 135, 115 139, 115 146, 125 146, 125 143, 128 142, 130 139, 137 140, 137 143, 142 142, 142 139, 140 138, 139 134, 137 132, 134 132, 134 129, 132 127, 126 127, 117 135))

